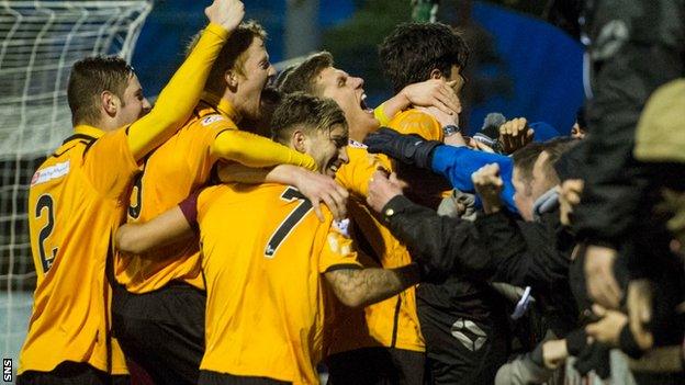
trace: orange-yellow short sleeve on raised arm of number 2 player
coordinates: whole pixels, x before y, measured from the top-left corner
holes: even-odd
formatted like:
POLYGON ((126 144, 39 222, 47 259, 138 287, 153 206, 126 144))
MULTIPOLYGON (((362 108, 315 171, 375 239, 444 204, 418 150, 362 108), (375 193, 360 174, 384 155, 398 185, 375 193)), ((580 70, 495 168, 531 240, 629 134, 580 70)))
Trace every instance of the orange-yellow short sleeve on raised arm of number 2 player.
POLYGON ((120 128, 98 138, 86 150, 82 169, 101 195, 111 199, 127 195, 128 184, 138 172, 138 166, 128 148, 126 129, 120 128))

